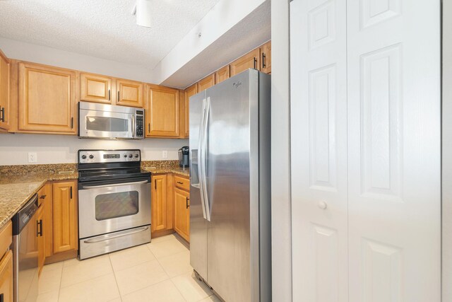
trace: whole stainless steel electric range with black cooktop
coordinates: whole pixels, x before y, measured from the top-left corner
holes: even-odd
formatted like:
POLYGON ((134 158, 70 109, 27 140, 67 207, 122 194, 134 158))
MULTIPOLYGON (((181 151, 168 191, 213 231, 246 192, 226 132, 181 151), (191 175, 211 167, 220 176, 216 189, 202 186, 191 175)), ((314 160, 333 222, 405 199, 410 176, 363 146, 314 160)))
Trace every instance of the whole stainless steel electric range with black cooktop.
POLYGON ((78 151, 80 260, 150 242, 150 172, 140 150, 78 151))

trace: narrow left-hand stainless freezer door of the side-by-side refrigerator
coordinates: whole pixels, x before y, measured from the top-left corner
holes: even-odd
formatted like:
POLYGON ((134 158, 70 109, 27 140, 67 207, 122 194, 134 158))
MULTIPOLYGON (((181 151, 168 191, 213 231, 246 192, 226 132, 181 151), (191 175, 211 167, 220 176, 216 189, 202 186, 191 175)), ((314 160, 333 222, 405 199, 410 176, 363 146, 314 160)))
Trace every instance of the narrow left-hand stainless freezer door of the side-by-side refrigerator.
POLYGON ((190 98, 190 264, 207 280, 207 221, 204 219, 199 180, 198 148, 206 91, 190 98))

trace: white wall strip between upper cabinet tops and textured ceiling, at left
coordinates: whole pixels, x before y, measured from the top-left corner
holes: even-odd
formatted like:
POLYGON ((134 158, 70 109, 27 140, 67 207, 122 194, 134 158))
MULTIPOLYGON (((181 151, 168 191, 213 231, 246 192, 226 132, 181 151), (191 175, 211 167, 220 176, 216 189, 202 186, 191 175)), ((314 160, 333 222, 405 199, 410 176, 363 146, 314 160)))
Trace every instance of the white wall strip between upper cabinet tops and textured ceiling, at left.
POLYGON ((11 59, 153 83, 151 71, 139 65, 114 62, 4 37, 0 37, 0 50, 6 54, 6 57, 11 59))

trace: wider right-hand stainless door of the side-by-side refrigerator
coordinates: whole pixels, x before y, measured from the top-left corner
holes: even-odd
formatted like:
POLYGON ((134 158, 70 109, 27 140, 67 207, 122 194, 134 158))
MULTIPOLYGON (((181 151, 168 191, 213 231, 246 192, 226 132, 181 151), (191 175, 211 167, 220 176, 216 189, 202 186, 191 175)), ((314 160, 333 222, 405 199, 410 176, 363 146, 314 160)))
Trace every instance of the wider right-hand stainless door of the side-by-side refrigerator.
MULTIPOLYGON (((257 71, 244 71, 209 88, 206 95, 210 100, 206 150, 211 214, 208 284, 225 301, 256 298, 251 295, 250 156, 257 161, 258 154, 250 153, 250 144, 251 136, 257 139, 258 132, 254 127, 256 133, 251 133, 250 120, 254 116, 257 123, 258 106, 256 98, 250 99, 250 84, 257 97, 257 71)), ((258 209, 254 213, 258 215, 258 209)))

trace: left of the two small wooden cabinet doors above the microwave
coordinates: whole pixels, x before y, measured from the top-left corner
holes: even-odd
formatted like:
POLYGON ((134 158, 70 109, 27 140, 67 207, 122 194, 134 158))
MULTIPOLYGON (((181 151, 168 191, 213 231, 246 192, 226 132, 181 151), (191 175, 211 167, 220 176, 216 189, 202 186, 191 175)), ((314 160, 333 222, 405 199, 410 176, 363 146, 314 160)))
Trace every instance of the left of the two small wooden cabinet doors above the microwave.
POLYGON ((80 74, 80 100, 112 103, 112 78, 96 74, 80 74))

